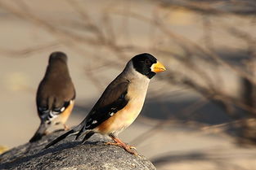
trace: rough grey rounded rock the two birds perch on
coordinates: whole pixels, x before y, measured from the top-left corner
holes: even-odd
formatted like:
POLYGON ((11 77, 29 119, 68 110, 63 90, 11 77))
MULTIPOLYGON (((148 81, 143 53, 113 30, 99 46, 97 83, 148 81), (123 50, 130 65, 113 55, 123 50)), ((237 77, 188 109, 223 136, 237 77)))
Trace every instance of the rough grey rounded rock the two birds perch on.
POLYGON ((39 142, 26 143, 0 155, 0 169, 155 169, 142 155, 134 156, 118 146, 104 145, 110 139, 99 134, 83 145, 74 141, 74 137, 67 137, 63 142, 43 149, 61 133, 53 133, 39 142))

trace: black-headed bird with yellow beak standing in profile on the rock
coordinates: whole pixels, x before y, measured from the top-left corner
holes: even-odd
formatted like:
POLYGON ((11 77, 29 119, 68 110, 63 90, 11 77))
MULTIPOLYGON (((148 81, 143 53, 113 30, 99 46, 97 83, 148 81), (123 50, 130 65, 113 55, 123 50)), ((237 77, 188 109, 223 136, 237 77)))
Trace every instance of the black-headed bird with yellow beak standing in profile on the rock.
POLYGON ((88 116, 74 129, 57 137, 44 148, 60 142, 65 137, 83 137, 82 144, 94 133, 108 135, 114 142, 106 145, 120 146, 128 153, 137 155, 133 146, 122 142, 118 134, 137 118, 143 107, 150 79, 166 68, 151 54, 137 54, 128 61, 123 72, 110 83, 101 94, 88 116))

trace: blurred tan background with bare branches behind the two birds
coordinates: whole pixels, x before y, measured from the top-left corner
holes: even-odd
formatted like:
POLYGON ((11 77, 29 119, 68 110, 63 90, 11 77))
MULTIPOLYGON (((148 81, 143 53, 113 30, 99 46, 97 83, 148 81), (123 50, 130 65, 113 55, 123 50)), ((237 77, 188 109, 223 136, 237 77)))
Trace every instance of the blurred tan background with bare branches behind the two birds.
POLYGON ((0 146, 38 128, 52 51, 68 57, 79 124, 132 56, 167 68, 120 138, 160 170, 256 169, 254 0, 0 0, 0 146))

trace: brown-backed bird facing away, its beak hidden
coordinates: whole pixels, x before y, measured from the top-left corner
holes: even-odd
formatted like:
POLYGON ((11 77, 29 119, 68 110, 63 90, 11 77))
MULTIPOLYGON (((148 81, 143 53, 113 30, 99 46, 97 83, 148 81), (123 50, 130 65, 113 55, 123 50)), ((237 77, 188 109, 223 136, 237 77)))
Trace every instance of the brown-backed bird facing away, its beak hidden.
POLYGON ((64 129, 75 99, 74 84, 67 66, 67 55, 56 51, 50 54, 47 70, 43 80, 38 85, 36 104, 41 120, 38 130, 29 142, 37 142, 47 134, 47 129, 55 124, 63 124, 64 129))

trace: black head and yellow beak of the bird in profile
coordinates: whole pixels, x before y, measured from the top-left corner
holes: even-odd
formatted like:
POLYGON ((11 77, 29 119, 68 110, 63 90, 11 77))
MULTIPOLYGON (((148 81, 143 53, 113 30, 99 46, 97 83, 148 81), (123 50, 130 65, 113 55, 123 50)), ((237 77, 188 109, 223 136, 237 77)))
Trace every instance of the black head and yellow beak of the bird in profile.
POLYGON ((133 68, 142 75, 152 78, 156 72, 164 72, 164 65, 159 63, 151 54, 137 54, 132 58, 133 68))

